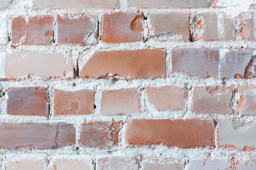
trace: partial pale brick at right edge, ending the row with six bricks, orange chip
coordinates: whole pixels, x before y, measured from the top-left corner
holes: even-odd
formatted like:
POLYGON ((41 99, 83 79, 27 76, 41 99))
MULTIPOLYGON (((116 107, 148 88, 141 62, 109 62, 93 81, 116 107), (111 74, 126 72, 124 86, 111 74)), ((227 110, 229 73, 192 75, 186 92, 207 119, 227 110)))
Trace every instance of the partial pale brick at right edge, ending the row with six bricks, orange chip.
POLYGON ((256 86, 248 85, 238 88, 240 99, 238 100, 238 112, 242 115, 256 114, 256 86))

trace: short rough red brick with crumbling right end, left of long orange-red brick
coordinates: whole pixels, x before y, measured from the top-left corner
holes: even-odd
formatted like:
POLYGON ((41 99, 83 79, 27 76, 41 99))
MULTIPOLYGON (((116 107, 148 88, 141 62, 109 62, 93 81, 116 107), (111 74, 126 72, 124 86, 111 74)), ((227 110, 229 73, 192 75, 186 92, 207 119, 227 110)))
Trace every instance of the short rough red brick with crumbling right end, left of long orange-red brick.
POLYGON ((97 121, 81 126, 80 145, 95 148, 112 148, 118 146, 121 122, 97 121))

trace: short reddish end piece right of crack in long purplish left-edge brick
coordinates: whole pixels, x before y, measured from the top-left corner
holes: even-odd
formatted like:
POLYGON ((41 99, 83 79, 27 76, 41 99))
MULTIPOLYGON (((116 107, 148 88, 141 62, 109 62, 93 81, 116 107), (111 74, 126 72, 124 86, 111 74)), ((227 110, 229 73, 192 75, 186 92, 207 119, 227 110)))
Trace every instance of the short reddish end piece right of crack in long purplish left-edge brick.
POLYGON ((58 124, 58 144, 57 146, 68 146, 76 144, 76 129, 73 124, 58 124))

